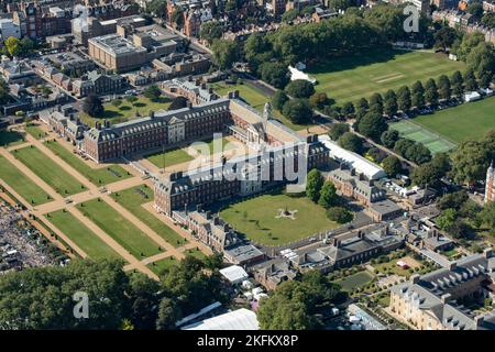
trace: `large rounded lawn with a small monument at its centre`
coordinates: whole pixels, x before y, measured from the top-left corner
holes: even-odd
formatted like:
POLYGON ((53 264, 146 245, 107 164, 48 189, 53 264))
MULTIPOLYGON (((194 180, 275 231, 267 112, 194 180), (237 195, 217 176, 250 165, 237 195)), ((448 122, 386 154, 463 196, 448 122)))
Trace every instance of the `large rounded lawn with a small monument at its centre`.
POLYGON ((249 239, 265 245, 289 243, 338 227, 328 220, 322 207, 306 197, 292 198, 275 193, 231 205, 220 217, 249 239), (280 209, 297 210, 296 219, 277 219, 280 209))

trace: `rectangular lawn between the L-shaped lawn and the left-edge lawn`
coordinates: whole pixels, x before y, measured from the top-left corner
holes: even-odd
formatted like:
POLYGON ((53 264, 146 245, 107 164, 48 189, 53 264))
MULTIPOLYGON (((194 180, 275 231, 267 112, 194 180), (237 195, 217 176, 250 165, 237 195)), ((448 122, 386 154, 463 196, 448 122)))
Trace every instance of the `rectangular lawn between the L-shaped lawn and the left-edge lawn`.
POLYGON ((78 194, 86 189, 77 179, 36 147, 26 146, 15 150, 12 155, 63 196, 78 194))

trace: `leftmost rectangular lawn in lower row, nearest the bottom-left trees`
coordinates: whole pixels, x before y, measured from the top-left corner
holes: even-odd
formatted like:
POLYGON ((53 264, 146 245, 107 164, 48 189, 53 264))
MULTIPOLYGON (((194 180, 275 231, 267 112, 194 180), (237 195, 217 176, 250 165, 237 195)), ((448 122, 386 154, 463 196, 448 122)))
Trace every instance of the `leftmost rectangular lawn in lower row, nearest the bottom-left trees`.
POLYGON ((51 212, 47 218, 55 227, 65 233, 77 244, 89 257, 99 258, 121 258, 108 244, 89 230, 82 222, 76 219, 70 212, 58 210, 51 212))

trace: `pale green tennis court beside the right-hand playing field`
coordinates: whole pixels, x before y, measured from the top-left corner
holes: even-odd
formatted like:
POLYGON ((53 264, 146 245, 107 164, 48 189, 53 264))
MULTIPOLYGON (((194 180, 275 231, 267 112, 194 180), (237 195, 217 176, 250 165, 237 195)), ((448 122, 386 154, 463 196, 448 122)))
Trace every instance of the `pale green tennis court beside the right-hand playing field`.
POLYGON ((400 136, 424 144, 432 154, 449 152, 455 147, 455 143, 411 121, 392 123, 391 128, 398 131, 400 136))

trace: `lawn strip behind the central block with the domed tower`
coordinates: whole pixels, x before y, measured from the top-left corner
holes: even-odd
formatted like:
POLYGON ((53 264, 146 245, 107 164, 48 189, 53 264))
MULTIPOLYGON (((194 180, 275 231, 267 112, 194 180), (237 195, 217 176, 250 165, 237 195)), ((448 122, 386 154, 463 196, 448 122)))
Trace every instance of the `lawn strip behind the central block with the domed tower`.
MULTIPOLYGON (((211 87, 220 96, 227 96, 229 91, 239 90, 239 95, 241 96, 241 98, 244 99, 254 109, 261 112, 263 112, 265 103, 272 100, 270 96, 265 95, 264 92, 260 91, 256 87, 248 82, 244 82, 242 85, 241 84, 228 85, 224 82, 217 82, 212 84, 211 87)), ((304 130, 311 125, 311 124, 306 125, 293 123, 287 118, 285 118, 278 110, 275 109, 273 109, 272 113, 275 119, 280 120, 282 123, 284 123, 286 127, 290 128, 294 131, 304 130)))

